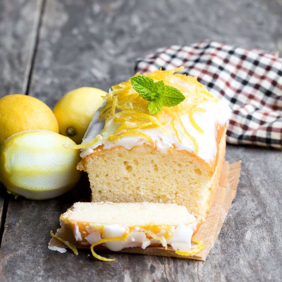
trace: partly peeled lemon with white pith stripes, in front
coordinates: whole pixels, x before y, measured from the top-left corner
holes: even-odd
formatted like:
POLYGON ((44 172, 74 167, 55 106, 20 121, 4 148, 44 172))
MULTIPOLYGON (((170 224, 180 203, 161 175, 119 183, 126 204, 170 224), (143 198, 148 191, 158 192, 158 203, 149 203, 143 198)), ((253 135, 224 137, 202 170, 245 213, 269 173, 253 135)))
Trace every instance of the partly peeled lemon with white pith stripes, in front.
POLYGON ((9 193, 28 199, 52 199, 80 179, 79 151, 65 149, 70 138, 46 130, 17 133, 0 145, 0 181, 9 193))

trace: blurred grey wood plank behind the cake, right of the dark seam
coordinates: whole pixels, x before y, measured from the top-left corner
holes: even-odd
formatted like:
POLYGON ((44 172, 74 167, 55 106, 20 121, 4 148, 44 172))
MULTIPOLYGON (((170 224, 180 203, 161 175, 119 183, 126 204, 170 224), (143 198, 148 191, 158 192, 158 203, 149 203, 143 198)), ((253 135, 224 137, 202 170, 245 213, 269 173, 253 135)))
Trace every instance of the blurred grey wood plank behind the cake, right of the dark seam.
POLYGON ((133 74, 144 52, 205 38, 282 50, 282 9, 262 2, 48 1, 30 94, 53 107, 77 87, 108 90, 133 74))

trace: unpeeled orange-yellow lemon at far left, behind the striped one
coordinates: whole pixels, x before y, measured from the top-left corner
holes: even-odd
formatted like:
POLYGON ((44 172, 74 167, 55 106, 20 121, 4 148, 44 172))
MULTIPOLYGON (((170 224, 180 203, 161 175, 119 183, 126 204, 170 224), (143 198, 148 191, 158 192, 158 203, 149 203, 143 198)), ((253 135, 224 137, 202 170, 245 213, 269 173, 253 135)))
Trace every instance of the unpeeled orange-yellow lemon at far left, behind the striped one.
POLYGON ((0 99, 0 144, 15 133, 33 129, 59 133, 56 117, 45 103, 23 94, 0 99))

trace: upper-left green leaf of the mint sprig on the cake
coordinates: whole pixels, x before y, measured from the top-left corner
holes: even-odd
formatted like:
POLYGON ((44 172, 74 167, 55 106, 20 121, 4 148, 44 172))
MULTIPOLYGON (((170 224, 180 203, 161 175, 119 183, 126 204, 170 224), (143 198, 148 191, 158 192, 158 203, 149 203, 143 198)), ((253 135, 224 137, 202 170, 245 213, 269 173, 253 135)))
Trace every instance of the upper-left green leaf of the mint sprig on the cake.
POLYGON ((140 96, 143 99, 147 101, 150 101, 153 99, 152 88, 153 88, 153 85, 155 84, 155 81, 152 78, 148 76, 144 76, 144 75, 138 75, 138 76, 132 77, 130 81, 131 81, 133 88, 140 94, 140 96))

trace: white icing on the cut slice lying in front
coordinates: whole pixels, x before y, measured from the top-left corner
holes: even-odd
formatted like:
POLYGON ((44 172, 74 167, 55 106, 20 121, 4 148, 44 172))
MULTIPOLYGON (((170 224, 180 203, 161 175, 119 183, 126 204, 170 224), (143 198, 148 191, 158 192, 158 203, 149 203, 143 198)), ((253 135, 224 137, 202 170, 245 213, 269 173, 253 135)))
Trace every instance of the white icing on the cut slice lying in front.
MULTIPOLYGON (((90 224, 91 225, 91 224, 90 224)), ((98 224, 98 226, 102 226, 102 224, 98 224)), ((135 248, 141 247, 145 249, 150 244, 162 244, 165 246, 165 243, 168 243, 172 246, 174 250, 190 250, 191 249, 191 238, 194 230, 197 228, 197 222, 193 222, 188 226, 184 224, 179 224, 177 228, 174 226, 171 227, 170 231, 173 233, 172 237, 166 242, 165 237, 163 236, 167 230, 160 230, 156 233, 157 236, 161 237, 163 242, 158 239, 148 239, 146 236, 146 231, 140 227, 136 227, 135 230, 131 231, 127 236, 127 241, 119 240, 106 242, 104 245, 112 250, 112 251, 120 251, 123 248, 135 248)), ((85 237, 85 240, 89 244, 94 244, 101 239, 101 234, 94 227, 87 228, 88 235, 85 237)), ((122 226, 119 224, 111 224, 111 225, 103 225, 103 238, 113 238, 113 237, 122 237, 126 230, 128 230, 127 226, 122 226)), ((79 238, 79 230, 77 228, 73 228, 74 237, 79 238)), ((76 239, 77 241, 81 241, 76 239)), ((80 242, 85 243, 85 242, 80 242)))

